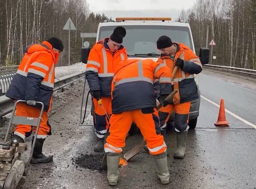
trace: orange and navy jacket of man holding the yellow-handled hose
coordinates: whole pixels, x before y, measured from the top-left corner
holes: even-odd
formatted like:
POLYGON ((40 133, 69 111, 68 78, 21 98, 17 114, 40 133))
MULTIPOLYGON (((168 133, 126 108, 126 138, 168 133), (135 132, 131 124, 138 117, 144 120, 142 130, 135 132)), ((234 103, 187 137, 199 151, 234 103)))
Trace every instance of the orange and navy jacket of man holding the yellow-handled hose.
POLYGON ((128 58, 123 45, 112 53, 107 45, 108 39, 105 38, 93 46, 86 65, 86 79, 90 91, 101 90, 101 96, 105 97, 111 97, 111 81, 115 67, 121 60, 128 58))

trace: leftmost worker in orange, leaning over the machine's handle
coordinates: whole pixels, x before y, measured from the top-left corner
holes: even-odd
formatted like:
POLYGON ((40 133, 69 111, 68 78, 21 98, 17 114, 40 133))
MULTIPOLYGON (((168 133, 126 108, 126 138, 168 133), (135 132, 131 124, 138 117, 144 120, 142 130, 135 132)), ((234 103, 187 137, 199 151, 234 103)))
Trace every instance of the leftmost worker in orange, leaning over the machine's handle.
MULTIPOLYGON (((63 50, 63 43, 57 37, 51 37, 42 43, 27 46, 17 73, 5 94, 14 101, 27 101, 27 104, 22 102, 17 104, 16 116, 39 117, 41 105, 36 104, 36 101, 44 104, 44 111, 30 162, 32 164, 46 163, 53 160, 52 156, 42 153, 42 146, 47 135, 52 134, 47 114, 52 105, 55 64, 58 62, 59 53, 63 50)), ((31 125, 18 124, 11 139, 24 143, 24 139, 35 130, 36 128, 31 125)), ((32 142, 33 140, 34 136, 32 142)))

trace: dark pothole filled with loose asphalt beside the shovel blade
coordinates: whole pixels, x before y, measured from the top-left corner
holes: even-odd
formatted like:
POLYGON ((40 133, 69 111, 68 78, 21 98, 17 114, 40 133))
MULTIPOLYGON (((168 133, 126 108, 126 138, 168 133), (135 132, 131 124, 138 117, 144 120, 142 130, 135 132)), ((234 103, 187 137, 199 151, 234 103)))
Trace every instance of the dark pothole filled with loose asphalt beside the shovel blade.
POLYGON ((91 169, 91 170, 99 170, 101 168, 101 163, 103 160, 105 153, 101 154, 81 154, 77 158, 72 158, 73 163, 77 164, 77 166, 91 169))

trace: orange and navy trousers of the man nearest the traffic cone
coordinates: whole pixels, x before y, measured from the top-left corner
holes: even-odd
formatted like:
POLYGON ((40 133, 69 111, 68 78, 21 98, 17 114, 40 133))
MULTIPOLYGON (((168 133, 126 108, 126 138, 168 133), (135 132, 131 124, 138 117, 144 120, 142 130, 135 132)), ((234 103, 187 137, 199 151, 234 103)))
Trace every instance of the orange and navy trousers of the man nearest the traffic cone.
POLYGON ((174 110, 174 128, 177 132, 184 132, 188 129, 188 115, 191 102, 184 102, 182 104, 168 104, 166 107, 159 109, 160 127, 162 130, 166 127, 171 113, 174 110))

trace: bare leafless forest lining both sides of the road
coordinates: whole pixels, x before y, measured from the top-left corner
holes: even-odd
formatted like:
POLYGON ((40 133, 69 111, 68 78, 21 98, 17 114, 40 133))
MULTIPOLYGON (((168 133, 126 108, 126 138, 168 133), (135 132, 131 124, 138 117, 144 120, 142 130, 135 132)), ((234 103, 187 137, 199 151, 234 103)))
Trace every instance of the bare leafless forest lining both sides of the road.
MULTIPOLYGON (((90 12, 86 0, 0 0, 0 66, 19 64, 27 45, 52 36, 65 46, 57 66, 68 65, 68 31, 63 27, 69 17, 77 28, 71 31, 73 64, 81 58, 80 33, 97 32, 100 22, 114 22, 111 17, 90 12)), ((176 21, 190 24, 197 54, 201 47, 211 50, 208 43, 215 40, 216 59, 209 64, 256 68, 255 0, 196 0, 176 21)))

